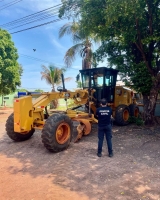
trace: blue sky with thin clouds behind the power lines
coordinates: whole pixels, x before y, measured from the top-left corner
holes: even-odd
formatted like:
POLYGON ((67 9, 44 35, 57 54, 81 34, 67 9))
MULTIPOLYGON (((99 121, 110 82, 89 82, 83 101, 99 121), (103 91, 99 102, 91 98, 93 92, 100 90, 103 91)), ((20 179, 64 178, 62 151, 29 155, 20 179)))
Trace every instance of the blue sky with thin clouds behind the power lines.
MULTIPOLYGON (((0 1, 0 9, 3 8, 3 5, 10 3, 11 1, 13 0, 0 1)), ((0 27, 5 23, 17 20, 60 3, 60 0, 22 0, 17 4, 0 10, 0 27)), ((42 24, 57 18, 58 17, 49 18, 47 20, 9 30, 9 33, 42 24)), ((66 20, 62 20, 35 29, 12 34, 12 41, 18 49, 18 62, 23 66, 24 70, 21 78, 21 88, 26 88, 30 91, 35 89, 43 89, 45 91, 51 90, 51 87, 47 85, 44 80, 41 80, 41 66, 48 66, 51 63, 55 64, 59 68, 64 66, 63 58, 65 52, 73 45, 73 43, 69 36, 59 39, 58 34, 60 27, 67 22, 68 21, 66 20), (36 51, 33 51, 33 49, 36 49, 36 51), (36 61, 33 58, 38 58, 47 62, 36 61)), ((76 88, 75 77, 79 73, 79 69, 81 69, 81 63, 81 58, 77 58, 73 63, 72 68, 68 69, 65 73, 65 77, 73 77, 72 81, 66 83, 67 89, 76 88)))

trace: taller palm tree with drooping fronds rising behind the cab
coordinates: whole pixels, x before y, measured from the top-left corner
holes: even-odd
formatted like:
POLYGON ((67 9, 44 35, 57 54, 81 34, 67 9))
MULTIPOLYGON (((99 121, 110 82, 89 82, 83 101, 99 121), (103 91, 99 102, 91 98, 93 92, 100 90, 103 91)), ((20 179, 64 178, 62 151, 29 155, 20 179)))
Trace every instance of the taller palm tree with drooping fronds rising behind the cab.
POLYGON ((75 45, 67 50, 64 56, 66 66, 70 67, 75 60, 76 55, 79 54, 83 58, 82 69, 91 68, 91 63, 93 63, 93 54, 91 49, 92 40, 98 42, 98 38, 87 37, 77 22, 69 22, 60 28, 59 37, 61 38, 66 34, 72 35, 72 40, 75 43, 75 45))

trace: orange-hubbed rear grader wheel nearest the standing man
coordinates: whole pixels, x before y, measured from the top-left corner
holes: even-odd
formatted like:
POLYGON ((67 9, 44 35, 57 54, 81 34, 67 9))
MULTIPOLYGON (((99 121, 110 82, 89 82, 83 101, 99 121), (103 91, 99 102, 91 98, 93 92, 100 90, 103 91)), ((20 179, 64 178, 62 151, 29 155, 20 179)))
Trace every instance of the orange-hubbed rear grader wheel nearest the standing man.
POLYGON ((115 121, 118 125, 125 126, 129 124, 129 116, 130 111, 128 106, 122 104, 116 108, 115 121))

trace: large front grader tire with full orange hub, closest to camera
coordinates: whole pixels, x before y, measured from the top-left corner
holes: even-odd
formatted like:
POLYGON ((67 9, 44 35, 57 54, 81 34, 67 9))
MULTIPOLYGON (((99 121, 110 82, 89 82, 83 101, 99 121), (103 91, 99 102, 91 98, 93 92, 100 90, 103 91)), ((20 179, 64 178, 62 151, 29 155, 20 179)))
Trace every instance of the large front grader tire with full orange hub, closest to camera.
POLYGON ((42 130, 42 142, 51 152, 60 152, 66 149, 73 136, 73 122, 65 114, 51 115, 42 130))

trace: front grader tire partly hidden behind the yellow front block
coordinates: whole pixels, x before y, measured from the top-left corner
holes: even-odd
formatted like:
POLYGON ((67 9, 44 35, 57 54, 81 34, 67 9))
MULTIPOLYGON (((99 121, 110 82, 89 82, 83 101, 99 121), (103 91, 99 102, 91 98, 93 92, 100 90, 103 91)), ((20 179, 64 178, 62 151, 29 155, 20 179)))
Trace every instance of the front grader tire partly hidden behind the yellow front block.
POLYGON ((24 140, 28 140, 34 133, 35 129, 32 129, 31 131, 29 131, 26 134, 20 134, 17 132, 14 132, 14 114, 12 113, 7 121, 6 121, 6 132, 7 135, 14 141, 24 141, 24 140))

